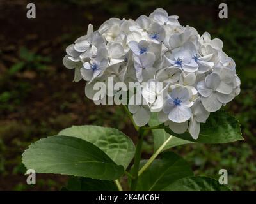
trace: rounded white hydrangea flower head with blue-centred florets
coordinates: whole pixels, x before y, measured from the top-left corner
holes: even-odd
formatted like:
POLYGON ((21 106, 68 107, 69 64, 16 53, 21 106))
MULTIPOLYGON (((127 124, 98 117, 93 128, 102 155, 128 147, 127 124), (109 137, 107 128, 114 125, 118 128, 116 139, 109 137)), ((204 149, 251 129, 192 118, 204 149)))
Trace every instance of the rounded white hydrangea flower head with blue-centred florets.
POLYGON ((210 112, 239 94, 240 80, 235 62, 222 51, 222 41, 207 32, 200 36, 178 18, 157 8, 135 21, 110 18, 97 31, 88 25, 87 34, 67 47, 63 64, 75 70, 74 81, 87 82, 90 99, 93 84, 108 77, 140 83, 147 103, 128 105, 134 122, 145 126, 151 113, 158 112, 159 121, 173 132, 188 130, 196 139, 210 112), (163 87, 152 86, 157 82, 163 87))

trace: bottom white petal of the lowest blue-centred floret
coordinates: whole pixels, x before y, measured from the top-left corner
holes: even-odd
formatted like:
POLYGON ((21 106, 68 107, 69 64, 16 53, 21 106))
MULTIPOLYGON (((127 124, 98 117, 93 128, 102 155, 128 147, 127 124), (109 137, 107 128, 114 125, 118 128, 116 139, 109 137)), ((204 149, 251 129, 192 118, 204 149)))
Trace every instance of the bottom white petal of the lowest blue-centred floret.
POLYGON ((171 109, 168 119, 172 120, 173 122, 185 122, 186 120, 190 119, 192 113, 191 109, 187 106, 173 106, 171 109))

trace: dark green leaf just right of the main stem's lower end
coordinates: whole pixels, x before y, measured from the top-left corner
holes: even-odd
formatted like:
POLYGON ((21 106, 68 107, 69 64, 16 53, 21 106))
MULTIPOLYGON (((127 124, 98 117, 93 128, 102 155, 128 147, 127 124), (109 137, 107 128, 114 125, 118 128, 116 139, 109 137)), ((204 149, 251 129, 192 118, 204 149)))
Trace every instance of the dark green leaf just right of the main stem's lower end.
MULTIPOLYGON (((141 161, 140 168, 146 163, 141 161)), ((155 159, 138 179, 138 191, 161 191, 175 180, 193 176, 193 171, 182 157, 173 152, 164 152, 155 159)))

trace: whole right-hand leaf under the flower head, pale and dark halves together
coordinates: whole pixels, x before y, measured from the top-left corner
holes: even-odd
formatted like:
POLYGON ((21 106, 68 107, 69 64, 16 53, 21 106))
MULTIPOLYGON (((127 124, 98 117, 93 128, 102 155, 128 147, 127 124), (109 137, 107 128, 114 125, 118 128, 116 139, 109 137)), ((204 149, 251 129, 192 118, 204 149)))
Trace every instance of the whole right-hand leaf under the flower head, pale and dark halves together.
MULTIPOLYGON (((150 126, 157 126, 159 124, 160 122, 155 114, 150 119, 150 126)), ((153 129, 154 150, 156 151, 170 135, 172 135, 172 138, 163 150, 192 142, 227 143, 243 140, 239 122, 235 117, 223 110, 211 113, 206 123, 201 123, 200 126, 200 134, 197 140, 194 140, 188 131, 183 134, 177 134, 173 133, 168 126, 163 126, 164 129, 153 129), (166 133, 164 133, 164 130, 166 133)))

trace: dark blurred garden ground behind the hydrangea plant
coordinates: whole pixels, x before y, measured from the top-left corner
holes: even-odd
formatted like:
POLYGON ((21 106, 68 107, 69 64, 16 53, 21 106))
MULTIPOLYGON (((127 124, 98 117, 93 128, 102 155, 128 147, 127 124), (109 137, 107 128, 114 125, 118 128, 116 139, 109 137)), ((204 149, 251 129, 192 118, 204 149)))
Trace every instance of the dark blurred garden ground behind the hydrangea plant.
MULTIPOLYGON (((182 25, 221 38, 224 51, 236 61, 241 94, 225 109, 241 122, 244 141, 221 145, 190 144, 173 148, 193 166, 196 175, 219 177, 228 171, 234 191, 256 190, 256 15, 254 1, 113 1, 0 0, 0 190, 54 191, 67 177, 36 175, 28 186, 20 161, 29 143, 63 128, 97 124, 118 128, 136 142, 136 132, 120 106, 95 106, 84 96, 84 82, 62 65, 65 47, 97 29, 110 17, 137 18, 161 7, 179 15, 182 25), (36 4, 36 19, 26 18, 26 5, 36 4), (218 5, 227 3, 228 19, 218 18, 218 5)), ((152 137, 143 157, 152 154, 152 137)))

